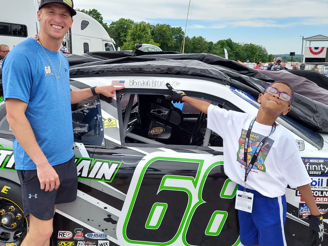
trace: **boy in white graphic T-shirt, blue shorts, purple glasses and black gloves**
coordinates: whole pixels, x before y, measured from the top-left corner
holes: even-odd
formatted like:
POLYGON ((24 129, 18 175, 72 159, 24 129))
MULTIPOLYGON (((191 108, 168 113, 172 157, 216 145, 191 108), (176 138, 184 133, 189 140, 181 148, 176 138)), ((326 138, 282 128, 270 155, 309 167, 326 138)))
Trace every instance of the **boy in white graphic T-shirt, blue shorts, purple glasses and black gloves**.
POLYGON ((241 243, 245 246, 287 245, 284 235, 285 189, 289 184, 291 187, 297 187, 310 209, 310 245, 320 245, 324 227, 322 215, 311 192, 312 180, 304 167, 294 137, 275 122, 280 114, 286 115, 291 110, 293 88, 284 81, 276 81, 267 86, 258 96, 257 101, 261 105, 255 117, 221 109, 208 102, 188 97, 184 92, 172 89, 169 84, 166 86, 173 93, 167 99, 187 102, 208 114, 207 127, 223 138, 224 172, 238 184, 236 208, 241 243), (241 154, 241 142, 244 148, 242 165, 239 160, 241 156, 236 158, 236 154, 241 154), (252 143, 253 148, 256 145, 255 150, 250 148, 252 143), (266 158, 260 169, 252 169, 261 150, 266 152, 266 158), (251 158, 247 158, 249 155, 251 158), (239 200, 240 197, 252 200, 247 203, 247 209, 240 206, 240 202, 245 201, 239 200), (270 213, 264 213, 267 209, 270 213))

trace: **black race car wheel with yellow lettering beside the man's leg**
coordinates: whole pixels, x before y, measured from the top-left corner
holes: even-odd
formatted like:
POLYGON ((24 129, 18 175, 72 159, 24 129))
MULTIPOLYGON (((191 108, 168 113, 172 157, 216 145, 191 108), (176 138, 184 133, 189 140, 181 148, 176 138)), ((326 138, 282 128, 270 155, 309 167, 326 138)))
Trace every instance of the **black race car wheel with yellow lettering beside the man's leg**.
POLYGON ((24 218, 20 185, 7 179, 0 179, 0 219, 0 246, 20 245, 29 221, 24 218))

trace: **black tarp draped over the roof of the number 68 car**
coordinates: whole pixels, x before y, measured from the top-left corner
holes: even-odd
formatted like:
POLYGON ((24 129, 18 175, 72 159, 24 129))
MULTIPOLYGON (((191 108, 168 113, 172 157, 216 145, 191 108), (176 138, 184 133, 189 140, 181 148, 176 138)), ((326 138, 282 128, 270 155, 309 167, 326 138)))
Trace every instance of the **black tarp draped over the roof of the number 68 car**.
MULTIPOLYGON (((137 55, 129 51, 109 51, 89 52, 82 57, 68 57, 72 64, 70 75, 139 73, 205 77, 235 86, 255 97, 273 81, 238 62, 211 54, 152 52, 137 55), (82 57, 99 60, 83 63, 82 57)), ((323 103, 296 93, 288 115, 314 131, 328 133, 328 106, 323 103)))

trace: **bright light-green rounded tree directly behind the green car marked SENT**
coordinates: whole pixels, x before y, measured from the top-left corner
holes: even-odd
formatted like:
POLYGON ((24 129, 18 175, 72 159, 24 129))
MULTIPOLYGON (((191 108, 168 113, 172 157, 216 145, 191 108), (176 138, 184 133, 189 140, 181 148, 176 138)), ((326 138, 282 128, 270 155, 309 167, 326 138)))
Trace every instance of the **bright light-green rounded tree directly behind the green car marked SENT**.
POLYGON ((122 50, 135 50, 134 44, 154 44, 159 46, 159 44, 154 42, 150 29, 150 24, 144 21, 134 23, 128 32, 122 50))

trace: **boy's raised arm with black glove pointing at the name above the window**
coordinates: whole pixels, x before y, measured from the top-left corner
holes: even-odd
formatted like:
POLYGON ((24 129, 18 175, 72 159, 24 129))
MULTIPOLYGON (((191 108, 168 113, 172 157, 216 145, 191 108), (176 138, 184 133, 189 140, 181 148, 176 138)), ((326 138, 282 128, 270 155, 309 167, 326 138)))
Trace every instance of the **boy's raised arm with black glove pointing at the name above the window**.
POLYGON ((169 83, 166 84, 166 87, 172 92, 172 95, 167 96, 166 99, 171 100, 173 102, 181 102, 181 101, 187 102, 191 106, 207 114, 207 109, 211 105, 210 103, 195 98, 191 98, 187 96, 187 94, 184 93, 183 91, 174 90, 169 83))

